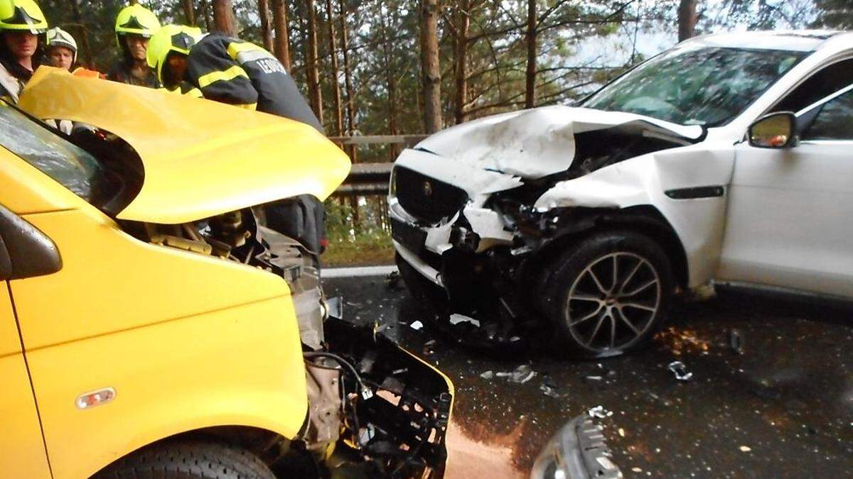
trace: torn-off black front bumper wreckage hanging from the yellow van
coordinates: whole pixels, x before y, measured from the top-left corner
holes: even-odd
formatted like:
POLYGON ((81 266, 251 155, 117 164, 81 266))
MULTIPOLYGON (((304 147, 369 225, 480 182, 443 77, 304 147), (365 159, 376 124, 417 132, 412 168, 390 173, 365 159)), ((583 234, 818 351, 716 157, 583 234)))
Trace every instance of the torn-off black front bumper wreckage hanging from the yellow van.
POLYGON ((305 352, 306 446, 333 477, 443 477, 450 379, 369 326, 324 326, 325 347, 305 352))

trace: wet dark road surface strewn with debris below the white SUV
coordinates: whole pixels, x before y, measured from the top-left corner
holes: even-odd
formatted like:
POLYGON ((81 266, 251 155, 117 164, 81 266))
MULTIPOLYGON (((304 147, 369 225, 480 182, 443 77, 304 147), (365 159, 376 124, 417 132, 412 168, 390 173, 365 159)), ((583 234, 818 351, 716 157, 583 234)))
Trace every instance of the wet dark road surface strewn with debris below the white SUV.
POLYGON ((853 470, 850 306, 729 292, 676 307, 650 349, 571 361, 484 355, 444 341, 427 312, 384 277, 325 283, 330 297, 344 298, 347 320, 379 321, 453 380, 450 479, 525 477, 554 431, 597 406, 612 412, 595 420, 626 477, 842 477, 853 470), (416 320, 426 326, 415 331, 409 325, 416 320), (740 354, 731 347, 733 329, 740 354), (672 361, 693 378, 676 380, 672 361), (536 372, 524 384, 497 374, 522 365, 536 372), (494 376, 481 377, 488 372, 494 376))

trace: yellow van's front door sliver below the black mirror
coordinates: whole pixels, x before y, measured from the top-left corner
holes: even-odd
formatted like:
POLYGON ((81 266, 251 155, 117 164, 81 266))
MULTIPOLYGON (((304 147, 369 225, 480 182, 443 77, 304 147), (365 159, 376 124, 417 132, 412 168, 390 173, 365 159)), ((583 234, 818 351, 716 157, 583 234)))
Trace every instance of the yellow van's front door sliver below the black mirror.
POLYGON ((0 281, 0 476, 49 477, 42 430, 20 351, 6 281, 0 281))

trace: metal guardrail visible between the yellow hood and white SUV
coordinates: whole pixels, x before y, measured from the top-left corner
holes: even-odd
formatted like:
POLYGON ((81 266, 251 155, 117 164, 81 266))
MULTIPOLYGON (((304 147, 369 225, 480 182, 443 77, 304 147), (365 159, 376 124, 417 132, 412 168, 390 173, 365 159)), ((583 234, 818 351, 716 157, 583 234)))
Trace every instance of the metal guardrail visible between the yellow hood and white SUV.
MULTIPOLYGON (((404 145, 414 146, 427 135, 377 135, 377 136, 329 136, 329 140, 341 146, 349 145, 404 145)), ((368 196, 388 192, 393 163, 355 163, 350 176, 335 190, 336 196, 368 196)))

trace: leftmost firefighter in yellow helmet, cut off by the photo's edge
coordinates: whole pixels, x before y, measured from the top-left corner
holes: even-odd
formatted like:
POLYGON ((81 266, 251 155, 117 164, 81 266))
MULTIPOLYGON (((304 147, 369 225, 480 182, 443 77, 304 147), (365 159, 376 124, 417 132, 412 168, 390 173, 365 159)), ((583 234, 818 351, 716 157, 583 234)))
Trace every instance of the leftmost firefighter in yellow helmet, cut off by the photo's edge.
POLYGON ((0 97, 18 102, 39 66, 48 22, 33 0, 0 0, 0 97))

